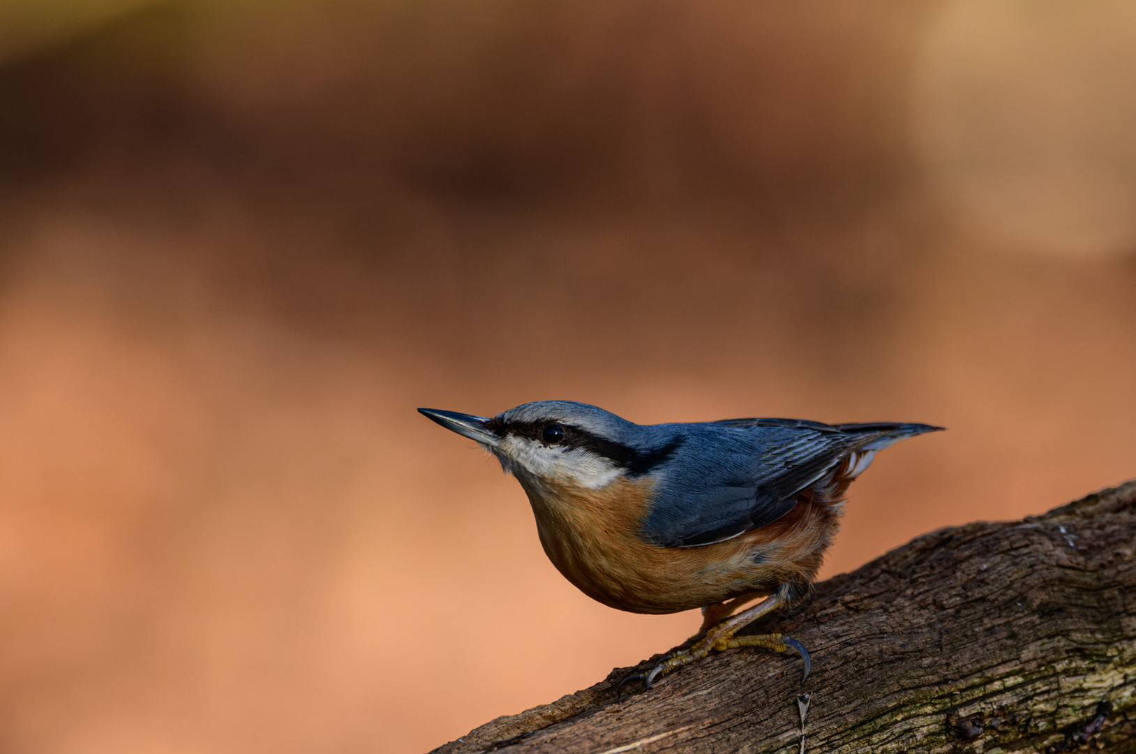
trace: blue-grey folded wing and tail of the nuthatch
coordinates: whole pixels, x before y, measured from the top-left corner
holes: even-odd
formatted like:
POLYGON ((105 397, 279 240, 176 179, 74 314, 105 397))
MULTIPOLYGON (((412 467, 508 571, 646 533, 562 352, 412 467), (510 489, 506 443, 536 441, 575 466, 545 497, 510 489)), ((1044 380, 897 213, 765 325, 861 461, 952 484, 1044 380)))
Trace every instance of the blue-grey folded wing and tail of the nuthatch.
POLYGON ((688 425, 683 451, 661 475, 642 533, 662 547, 696 547, 766 525, 852 450, 876 450, 938 428, 727 420, 688 425))

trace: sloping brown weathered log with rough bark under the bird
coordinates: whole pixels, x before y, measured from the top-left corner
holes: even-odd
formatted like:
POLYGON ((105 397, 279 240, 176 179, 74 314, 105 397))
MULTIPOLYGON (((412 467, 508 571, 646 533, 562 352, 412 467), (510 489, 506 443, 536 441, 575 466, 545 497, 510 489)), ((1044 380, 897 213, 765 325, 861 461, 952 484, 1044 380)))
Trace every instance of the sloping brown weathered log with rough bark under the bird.
POLYGON ((753 632, 801 661, 712 655, 629 673, 446 744, 461 752, 1136 752, 1136 481, 1042 516, 924 535, 753 632))

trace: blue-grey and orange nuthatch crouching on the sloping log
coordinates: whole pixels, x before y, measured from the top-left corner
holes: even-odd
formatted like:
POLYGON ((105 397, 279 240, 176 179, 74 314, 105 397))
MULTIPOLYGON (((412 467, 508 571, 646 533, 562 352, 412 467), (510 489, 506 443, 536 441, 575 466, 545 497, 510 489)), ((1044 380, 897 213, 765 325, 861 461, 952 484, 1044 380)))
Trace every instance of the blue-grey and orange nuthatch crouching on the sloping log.
POLYGON ((617 693, 747 646, 801 655, 803 682, 803 644, 737 632, 810 595, 847 487, 879 450, 944 429, 796 419, 636 424, 573 400, 490 417, 418 411, 516 477, 544 553, 588 597, 633 613, 702 611, 693 645, 625 678, 617 693))

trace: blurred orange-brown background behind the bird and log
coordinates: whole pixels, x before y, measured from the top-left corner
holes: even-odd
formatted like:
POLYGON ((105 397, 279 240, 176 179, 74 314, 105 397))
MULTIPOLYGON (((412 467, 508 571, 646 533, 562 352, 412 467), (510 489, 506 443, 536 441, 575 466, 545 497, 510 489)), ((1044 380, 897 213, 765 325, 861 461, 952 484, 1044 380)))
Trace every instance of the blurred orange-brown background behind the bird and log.
POLYGON ((415 413, 951 431, 825 573, 1136 477, 1128 0, 0 0, 0 749, 416 752, 683 640, 415 413))

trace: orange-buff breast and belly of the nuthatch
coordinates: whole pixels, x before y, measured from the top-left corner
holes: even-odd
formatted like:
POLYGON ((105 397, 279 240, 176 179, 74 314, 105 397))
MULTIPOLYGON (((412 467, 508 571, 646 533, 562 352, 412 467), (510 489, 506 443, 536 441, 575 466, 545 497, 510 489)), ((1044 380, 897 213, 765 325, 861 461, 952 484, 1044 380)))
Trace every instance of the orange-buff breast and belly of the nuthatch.
POLYGON ((703 547, 657 547, 638 536, 649 478, 601 490, 567 480, 526 483, 544 552, 584 594, 634 613, 712 605, 791 580, 809 580, 836 530, 840 504, 804 496, 771 524, 703 547))

